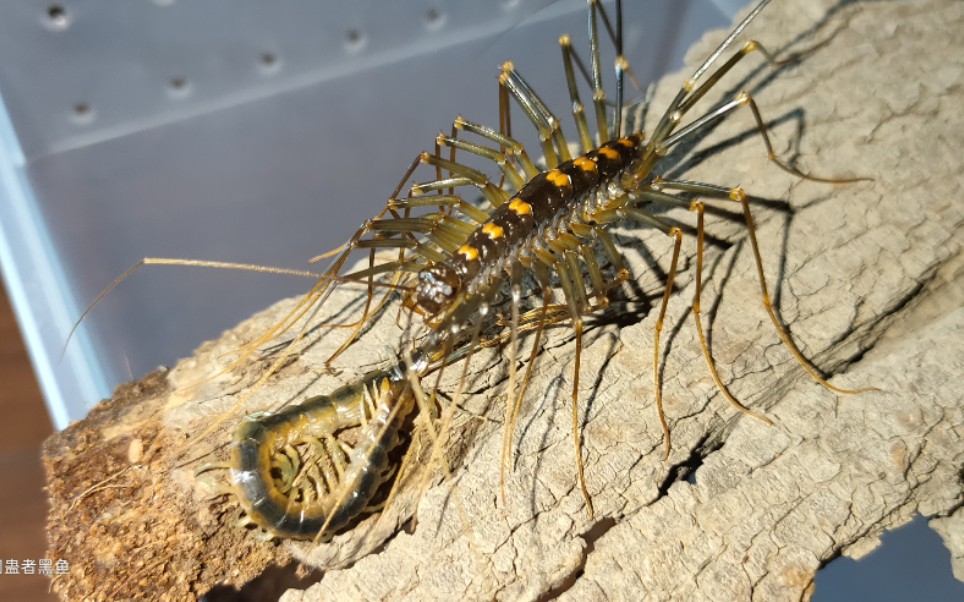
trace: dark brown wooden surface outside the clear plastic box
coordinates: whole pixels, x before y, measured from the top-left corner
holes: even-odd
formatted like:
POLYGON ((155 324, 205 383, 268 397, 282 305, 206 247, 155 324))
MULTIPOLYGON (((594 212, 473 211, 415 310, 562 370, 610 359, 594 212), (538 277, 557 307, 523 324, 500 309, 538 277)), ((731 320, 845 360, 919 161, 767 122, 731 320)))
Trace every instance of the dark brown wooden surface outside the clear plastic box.
POLYGON ((9 575, 7 561, 47 557, 40 444, 52 432, 50 418, 23 339, 0 286, 0 600, 56 600, 41 575, 9 575))

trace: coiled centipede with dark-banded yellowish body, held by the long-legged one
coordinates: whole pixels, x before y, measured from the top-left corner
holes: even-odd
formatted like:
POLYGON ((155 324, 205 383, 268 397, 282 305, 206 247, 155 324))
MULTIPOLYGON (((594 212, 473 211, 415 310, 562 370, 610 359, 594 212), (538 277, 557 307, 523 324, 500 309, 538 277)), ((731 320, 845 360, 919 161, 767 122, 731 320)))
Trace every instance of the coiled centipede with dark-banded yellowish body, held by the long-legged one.
POLYGON ((247 517, 276 537, 311 539, 361 514, 391 477, 388 452, 414 407, 405 370, 393 366, 330 396, 245 419, 231 446, 231 480, 247 517), (342 447, 339 431, 358 425, 355 447, 342 447), (313 457, 303 460, 298 445, 313 457))

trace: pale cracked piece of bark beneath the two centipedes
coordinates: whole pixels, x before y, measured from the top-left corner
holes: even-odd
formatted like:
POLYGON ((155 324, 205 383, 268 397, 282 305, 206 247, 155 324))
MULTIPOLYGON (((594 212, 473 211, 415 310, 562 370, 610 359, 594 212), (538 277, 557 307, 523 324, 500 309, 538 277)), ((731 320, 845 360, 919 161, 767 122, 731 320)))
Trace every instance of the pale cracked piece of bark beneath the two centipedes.
MULTIPOLYGON (((639 285, 614 304, 611 313, 623 314, 618 326, 595 324, 587 333, 580 381, 594 518, 575 476, 574 343, 568 329, 555 329, 523 407, 506 504, 498 495, 502 350, 473 361, 465 411, 451 431, 452 478, 435 478, 414 529, 399 525, 416 506, 417 471, 383 514, 330 544, 257 542, 230 525, 237 516, 230 500, 204 501, 197 467, 224 458, 240 416, 331 391, 383 361, 398 336, 388 312, 349 349, 341 364, 351 368, 338 376, 323 374, 322 365, 340 340, 323 336, 239 406, 267 360, 208 376, 290 308, 285 301, 48 442, 52 550, 76 569, 55 588, 71 599, 109 598, 104 592, 116 597, 131 587, 152 595, 153 583, 178 598, 242 583, 293 554, 327 569, 309 589, 286 593, 288 602, 798 600, 813 592, 822 564, 868 553, 915 513, 935 519, 960 578, 962 29, 964 4, 956 0, 775 2, 749 37, 779 52, 830 41, 776 69, 751 56, 710 96, 750 91, 777 154, 802 170, 873 180, 830 185, 780 171, 767 163, 748 110, 674 152, 679 167, 666 172, 740 185, 753 196, 770 292, 791 336, 835 385, 879 392, 838 396, 807 376, 761 307, 739 211, 708 200, 732 218, 708 217, 715 242, 703 323, 731 392, 774 426, 734 410, 707 373, 690 311, 688 235, 663 334, 673 451, 662 460, 651 376, 656 312, 648 310, 658 306, 672 244, 658 232, 624 228, 619 238, 639 285)), ((724 35, 708 34, 689 64, 724 35)), ((663 80, 654 112, 688 74, 663 80)), ((669 215, 693 223, 686 212, 669 215)), ((357 293, 329 307, 351 299, 357 293)))

